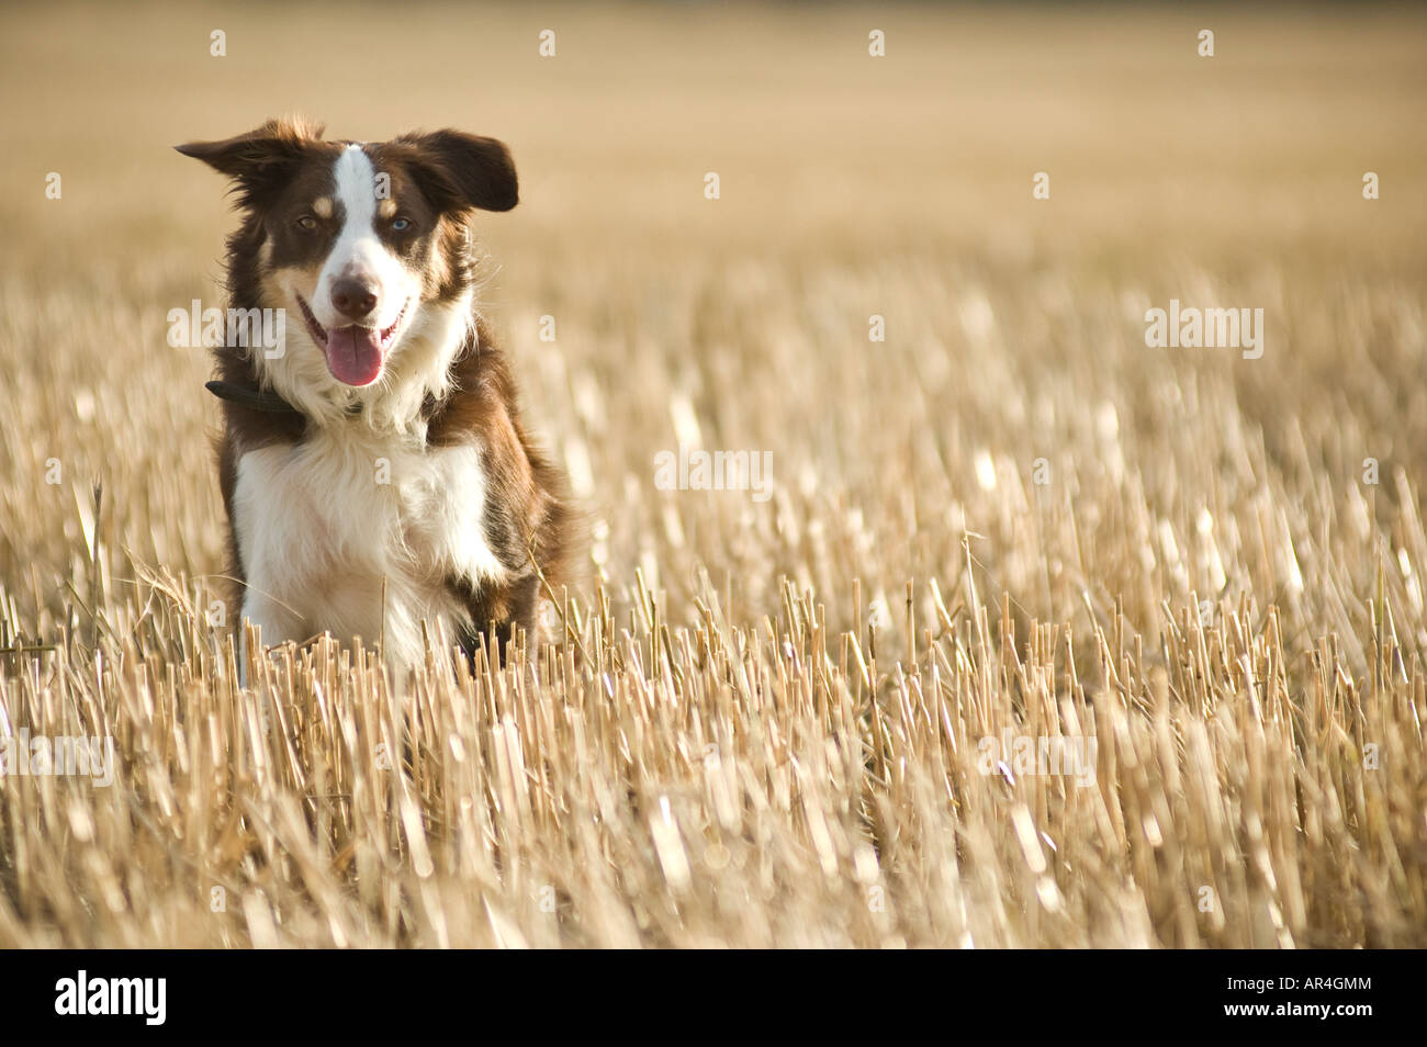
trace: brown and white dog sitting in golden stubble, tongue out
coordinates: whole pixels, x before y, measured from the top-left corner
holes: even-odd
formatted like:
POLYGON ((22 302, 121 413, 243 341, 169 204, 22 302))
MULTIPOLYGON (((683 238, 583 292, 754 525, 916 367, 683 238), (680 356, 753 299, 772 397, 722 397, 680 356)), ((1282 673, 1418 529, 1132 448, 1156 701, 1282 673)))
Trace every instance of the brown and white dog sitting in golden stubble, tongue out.
POLYGON ((177 147, 234 180, 243 218, 208 385, 243 615, 265 645, 381 640, 395 668, 422 659, 422 623, 468 650, 492 625, 534 646, 571 511, 477 315, 469 248, 477 210, 515 207, 509 151, 321 136, 285 118, 177 147), (287 311, 278 351, 234 337, 250 310, 287 311))

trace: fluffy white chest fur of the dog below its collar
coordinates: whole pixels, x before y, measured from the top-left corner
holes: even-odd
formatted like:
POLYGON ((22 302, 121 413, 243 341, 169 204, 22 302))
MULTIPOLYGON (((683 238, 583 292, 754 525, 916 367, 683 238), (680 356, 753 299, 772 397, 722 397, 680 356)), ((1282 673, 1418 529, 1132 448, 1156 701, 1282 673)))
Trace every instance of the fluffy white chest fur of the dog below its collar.
POLYGON ((264 643, 328 630, 382 640, 390 658, 415 662, 422 620, 447 630, 464 622, 451 582, 505 573, 485 539, 475 445, 318 431, 245 454, 233 516, 244 613, 264 643))

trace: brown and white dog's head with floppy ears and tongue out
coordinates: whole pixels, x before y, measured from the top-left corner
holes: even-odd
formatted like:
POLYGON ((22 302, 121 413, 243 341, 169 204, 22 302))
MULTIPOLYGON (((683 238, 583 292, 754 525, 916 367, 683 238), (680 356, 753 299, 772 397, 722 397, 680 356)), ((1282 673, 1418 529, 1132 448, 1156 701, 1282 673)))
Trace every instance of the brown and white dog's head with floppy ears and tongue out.
POLYGON ((260 377, 318 417, 440 387, 469 322, 471 214, 518 198, 502 143, 327 141, 288 118, 177 148, 234 180, 233 304, 287 311, 283 352, 254 354, 260 377))

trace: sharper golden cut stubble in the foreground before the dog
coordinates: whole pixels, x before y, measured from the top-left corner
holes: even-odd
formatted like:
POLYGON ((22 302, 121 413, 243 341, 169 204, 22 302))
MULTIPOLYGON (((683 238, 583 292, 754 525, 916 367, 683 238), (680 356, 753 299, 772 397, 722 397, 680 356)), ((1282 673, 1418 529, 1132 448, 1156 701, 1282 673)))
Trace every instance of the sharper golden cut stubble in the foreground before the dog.
POLYGON ((1079 638, 1027 622, 1017 655, 1006 605, 933 596, 913 669, 783 596, 746 628, 712 588, 686 629, 652 601, 626 625, 571 609, 582 659, 434 653, 402 690, 320 640, 243 690, 231 645, 154 579, 96 656, 6 673, 9 723, 113 733, 120 773, 6 780, 0 934, 1423 944, 1421 676, 1390 642, 1361 689, 1324 646, 1296 699, 1276 612, 1167 619, 1162 656, 1117 615, 1079 638), (983 773, 977 740, 1005 729, 1092 733, 1093 782, 1009 755, 983 773))

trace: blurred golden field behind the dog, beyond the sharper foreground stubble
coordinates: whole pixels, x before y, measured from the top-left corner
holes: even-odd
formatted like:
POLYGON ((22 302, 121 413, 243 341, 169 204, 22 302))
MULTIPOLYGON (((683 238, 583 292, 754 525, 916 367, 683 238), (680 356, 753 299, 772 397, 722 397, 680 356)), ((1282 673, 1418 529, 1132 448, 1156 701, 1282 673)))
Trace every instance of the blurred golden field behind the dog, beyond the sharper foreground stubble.
POLYGON ((1387 546, 1420 611, 1424 56, 1413 7, 7 6, 0 586, 53 632, 94 479, 107 571, 221 571, 208 362, 164 335, 234 217, 171 145, 298 111, 509 144, 482 308, 616 599, 682 618, 706 569, 748 619, 786 575, 846 625, 853 578, 955 591, 970 532, 1043 618, 1241 595, 1307 643, 1387 546), (1172 297, 1263 308, 1263 358, 1147 349, 1172 297), (775 496, 658 491, 681 444, 769 451, 775 496))

